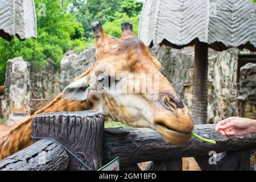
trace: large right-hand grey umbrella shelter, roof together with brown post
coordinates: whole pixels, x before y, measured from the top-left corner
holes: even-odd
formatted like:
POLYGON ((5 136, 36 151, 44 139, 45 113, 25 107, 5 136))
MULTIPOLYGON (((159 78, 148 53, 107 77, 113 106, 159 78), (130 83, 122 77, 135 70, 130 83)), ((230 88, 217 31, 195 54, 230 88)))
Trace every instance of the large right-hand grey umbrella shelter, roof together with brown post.
POLYGON ((208 47, 256 47, 256 5, 251 0, 146 0, 139 38, 147 46, 195 44, 192 118, 207 121, 208 47))

